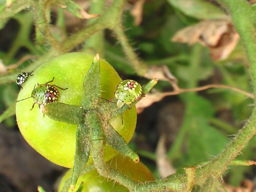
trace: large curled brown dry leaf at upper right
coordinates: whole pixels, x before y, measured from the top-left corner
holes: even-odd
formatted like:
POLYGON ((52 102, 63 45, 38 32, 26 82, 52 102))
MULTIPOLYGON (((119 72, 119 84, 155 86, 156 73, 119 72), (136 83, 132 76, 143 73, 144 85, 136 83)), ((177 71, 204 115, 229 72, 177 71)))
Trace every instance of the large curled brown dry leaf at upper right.
POLYGON ((234 50, 239 40, 231 20, 213 19, 199 22, 178 31, 172 41, 193 45, 200 42, 210 49, 211 57, 215 61, 226 59, 234 50))

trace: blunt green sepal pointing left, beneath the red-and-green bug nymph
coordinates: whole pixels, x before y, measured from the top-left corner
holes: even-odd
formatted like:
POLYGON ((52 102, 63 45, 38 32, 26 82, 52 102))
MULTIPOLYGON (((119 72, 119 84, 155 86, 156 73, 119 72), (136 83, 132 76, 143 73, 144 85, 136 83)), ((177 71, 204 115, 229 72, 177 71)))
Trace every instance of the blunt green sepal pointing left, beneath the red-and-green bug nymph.
POLYGON ((84 110, 76 105, 50 103, 44 106, 43 112, 55 121, 61 121, 73 125, 82 124, 84 121, 84 110))

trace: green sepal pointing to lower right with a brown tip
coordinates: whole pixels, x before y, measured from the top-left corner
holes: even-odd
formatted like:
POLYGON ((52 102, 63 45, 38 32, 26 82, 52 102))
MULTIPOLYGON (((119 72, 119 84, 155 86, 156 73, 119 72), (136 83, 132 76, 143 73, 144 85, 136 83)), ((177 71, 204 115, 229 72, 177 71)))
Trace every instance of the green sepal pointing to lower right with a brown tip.
POLYGON ((135 163, 139 162, 139 156, 130 148, 123 137, 109 123, 104 132, 109 146, 120 153, 129 156, 135 163))

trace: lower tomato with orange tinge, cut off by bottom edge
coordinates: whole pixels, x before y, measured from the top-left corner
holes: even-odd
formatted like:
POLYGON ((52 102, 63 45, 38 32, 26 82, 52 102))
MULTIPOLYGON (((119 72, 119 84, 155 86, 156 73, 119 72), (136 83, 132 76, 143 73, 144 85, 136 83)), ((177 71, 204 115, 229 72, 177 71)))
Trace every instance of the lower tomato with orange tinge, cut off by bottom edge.
MULTIPOLYGON (((124 175, 130 177, 137 182, 145 181, 154 181, 154 176, 150 170, 141 162, 135 163, 129 157, 124 158, 123 155, 118 154, 112 160, 107 162, 113 169, 122 172, 124 175)), ((64 175, 59 185, 58 192, 61 191, 64 182, 72 176, 73 170, 70 169, 64 175)), ((118 183, 113 182, 113 180, 106 179, 102 176, 99 176, 96 170, 92 170, 87 174, 80 176, 77 180, 76 187, 74 191, 77 191, 80 188, 81 183, 83 182, 82 192, 94 191, 94 192, 128 192, 129 190, 118 183)), ((80 188, 81 189, 81 188, 80 188)), ((71 192, 71 189, 69 189, 71 192)))

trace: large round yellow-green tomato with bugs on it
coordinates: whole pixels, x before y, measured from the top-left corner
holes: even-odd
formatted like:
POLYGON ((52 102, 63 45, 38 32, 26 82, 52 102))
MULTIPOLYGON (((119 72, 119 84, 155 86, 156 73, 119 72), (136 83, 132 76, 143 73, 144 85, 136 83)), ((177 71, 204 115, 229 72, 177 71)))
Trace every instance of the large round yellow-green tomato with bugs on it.
MULTIPOLYGON (((33 76, 22 84, 23 89, 19 92, 17 100, 30 97, 37 83, 44 84, 55 77, 54 81, 49 84, 55 84, 62 88, 68 87, 66 90, 58 89, 58 102, 80 106, 82 83, 93 58, 94 55, 85 53, 67 53, 46 62, 34 70, 33 76)), ((101 97, 113 98, 116 86, 121 81, 120 77, 104 59, 100 60, 100 74, 101 97)), ((16 103, 16 119, 21 134, 42 156, 55 164, 72 168, 77 126, 55 121, 47 115, 44 117, 37 106, 30 110, 33 103, 33 98, 16 103)), ((136 126, 136 108, 133 107, 131 110, 125 111, 123 119, 123 125, 120 116, 111 119, 110 124, 128 143, 136 126)), ((104 154, 106 161, 116 154, 117 152, 113 148, 106 146, 104 154)), ((89 159, 88 163, 91 162, 92 158, 89 159)))

